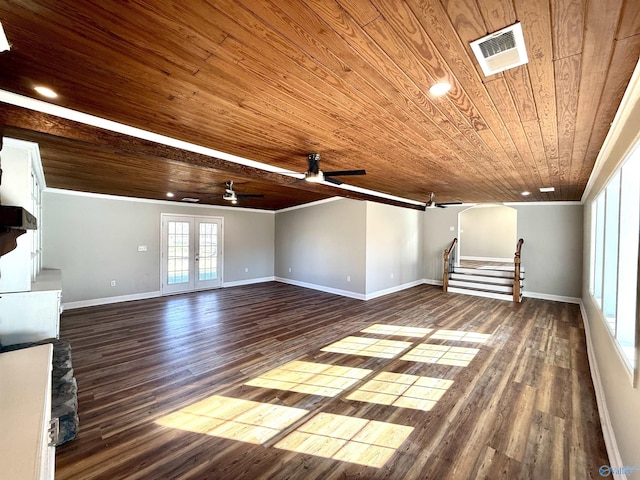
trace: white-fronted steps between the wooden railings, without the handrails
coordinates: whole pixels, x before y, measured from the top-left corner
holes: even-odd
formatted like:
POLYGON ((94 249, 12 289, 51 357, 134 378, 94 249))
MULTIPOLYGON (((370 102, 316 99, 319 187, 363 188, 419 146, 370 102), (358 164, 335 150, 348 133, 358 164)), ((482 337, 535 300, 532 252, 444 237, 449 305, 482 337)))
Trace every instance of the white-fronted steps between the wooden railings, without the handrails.
MULTIPOLYGON (((523 280, 524 271, 521 270, 520 301, 523 280)), ((514 267, 454 267, 448 283, 449 292, 513 301, 514 267)))

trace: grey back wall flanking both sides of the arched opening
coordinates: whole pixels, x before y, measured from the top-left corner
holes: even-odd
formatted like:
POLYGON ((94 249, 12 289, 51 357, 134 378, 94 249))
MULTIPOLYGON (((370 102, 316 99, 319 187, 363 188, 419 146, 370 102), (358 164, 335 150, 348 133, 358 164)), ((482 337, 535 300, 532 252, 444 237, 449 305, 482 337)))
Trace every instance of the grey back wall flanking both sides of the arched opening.
MULTIPOLYGON (((517 237, 524 239, 524 292, 555 299, 580 297, 582 282, 582 206, 511 205, 517 210, 517 237)), ((428 209, 424 221, 424 276, 442 282, 442 251, 458 231, 465 207, 428 209)), ((516 245, 513 245, 515 252, 516 245)))

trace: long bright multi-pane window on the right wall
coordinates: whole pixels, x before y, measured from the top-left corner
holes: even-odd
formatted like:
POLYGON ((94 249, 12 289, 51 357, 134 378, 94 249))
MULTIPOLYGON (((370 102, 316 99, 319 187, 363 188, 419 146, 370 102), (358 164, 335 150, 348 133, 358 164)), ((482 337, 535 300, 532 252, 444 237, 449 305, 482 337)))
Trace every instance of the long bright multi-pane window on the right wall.
POLYGON ((591 205, 589 289, 632 370, 636 362, 639 235, 640 146, 591 205))

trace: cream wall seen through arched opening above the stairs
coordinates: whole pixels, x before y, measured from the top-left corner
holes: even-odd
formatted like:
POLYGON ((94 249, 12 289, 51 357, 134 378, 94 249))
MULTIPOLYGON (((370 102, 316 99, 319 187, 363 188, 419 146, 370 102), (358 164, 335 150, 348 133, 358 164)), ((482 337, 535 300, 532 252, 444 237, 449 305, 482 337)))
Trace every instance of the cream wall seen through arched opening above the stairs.
POLYGON ((460 258, 513 261, 517 210, 503 205, 479 205, 460 213, 460 258))

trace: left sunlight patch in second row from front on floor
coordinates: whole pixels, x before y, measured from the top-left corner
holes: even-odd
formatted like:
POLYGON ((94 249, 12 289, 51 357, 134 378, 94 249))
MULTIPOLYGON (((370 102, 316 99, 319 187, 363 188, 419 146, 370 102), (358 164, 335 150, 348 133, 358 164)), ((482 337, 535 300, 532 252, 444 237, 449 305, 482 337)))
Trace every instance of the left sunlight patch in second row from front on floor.
POLYGON ((252 387, 335 397, 371 373, 364 368, 294 361, 245 383, 252 387))

